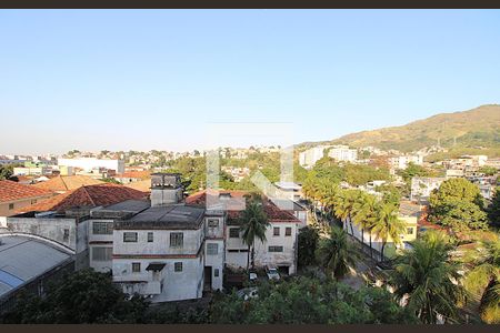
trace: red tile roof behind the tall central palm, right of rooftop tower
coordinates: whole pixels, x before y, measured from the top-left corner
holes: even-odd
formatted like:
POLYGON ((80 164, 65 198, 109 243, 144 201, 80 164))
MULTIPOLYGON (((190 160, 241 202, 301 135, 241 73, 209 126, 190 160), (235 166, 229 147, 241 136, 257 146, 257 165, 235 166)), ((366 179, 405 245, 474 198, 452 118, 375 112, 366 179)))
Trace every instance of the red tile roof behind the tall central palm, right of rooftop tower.
MULTIPOLYGON (((231 220, 236 220, 239 218, 240 211, 242 208, 244 208, 242 201, 244 199, 246 194, 249 194, 250 192, 247 191, 220 191, 220 193, 229 193, 231 194, 232 199, 236 199, 232 202, 232 206, 228 208, 228 216, 231 220)), ((210 194, 209 194, 210 195, 210 194)), ((187 204, 193 204, 193 205, 206 205, 207 203, 207 191, 199 191, 190 196, 186 198, 187 204)), ((290 212, 280 210, 272 201, 270 201, 268 198, 264 198, 263 200, 263 206, 264 212, 268 215, 269 222, 297 222, 300 221, 290 212)))

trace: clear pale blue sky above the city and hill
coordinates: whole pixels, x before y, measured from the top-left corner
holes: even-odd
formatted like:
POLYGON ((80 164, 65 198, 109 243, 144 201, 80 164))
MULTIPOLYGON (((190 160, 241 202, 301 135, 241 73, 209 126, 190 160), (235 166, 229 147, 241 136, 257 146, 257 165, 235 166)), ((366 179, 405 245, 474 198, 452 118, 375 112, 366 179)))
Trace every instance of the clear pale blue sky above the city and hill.
POLYGON ((499 102, 498 10, 0 11, 0 153, 204 149, 217 122, 299 143, 499 102))

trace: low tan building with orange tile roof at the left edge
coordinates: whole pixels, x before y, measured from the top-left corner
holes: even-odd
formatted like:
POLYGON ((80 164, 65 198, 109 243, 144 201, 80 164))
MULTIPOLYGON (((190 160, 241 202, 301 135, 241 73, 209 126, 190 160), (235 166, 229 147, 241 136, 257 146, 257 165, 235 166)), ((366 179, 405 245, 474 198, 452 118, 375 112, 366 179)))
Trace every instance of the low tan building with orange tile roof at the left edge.
POLYGON ((16 211, 53 195, 51 191, 18 182, 0 181, 0 216, 11 216, 16 211))

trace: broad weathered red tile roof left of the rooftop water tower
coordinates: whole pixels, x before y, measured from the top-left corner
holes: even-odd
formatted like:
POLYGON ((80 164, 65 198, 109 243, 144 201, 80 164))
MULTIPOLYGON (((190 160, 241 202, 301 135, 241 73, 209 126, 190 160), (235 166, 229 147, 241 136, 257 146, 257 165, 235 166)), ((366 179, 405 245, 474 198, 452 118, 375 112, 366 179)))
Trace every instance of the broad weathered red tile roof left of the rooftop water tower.
POLYGON ((22 208, 21 212, 64 211, 79 206, 99 206, 119 203, 130 199, 144 199, 148 193, 118 184, 97 184, 81 186, 77 190, 56 195, 40 203, 22 208))

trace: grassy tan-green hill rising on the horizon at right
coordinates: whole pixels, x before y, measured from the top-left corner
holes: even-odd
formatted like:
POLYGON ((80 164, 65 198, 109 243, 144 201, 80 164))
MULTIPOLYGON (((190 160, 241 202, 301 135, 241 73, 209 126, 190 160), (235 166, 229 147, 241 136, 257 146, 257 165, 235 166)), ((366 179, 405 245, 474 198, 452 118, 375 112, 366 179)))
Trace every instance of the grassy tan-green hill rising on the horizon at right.
MULTIPOLYGON (((500 105, 488 104, 469 111, 440 113, 406 125, 362 131, 316 144, 372 145, 409 152, 436 145, 438 140, 441 147, 451 150, 497 150, 500 148, 500 105)), ((300 145, 312 144, 307 142, 300 145)))

